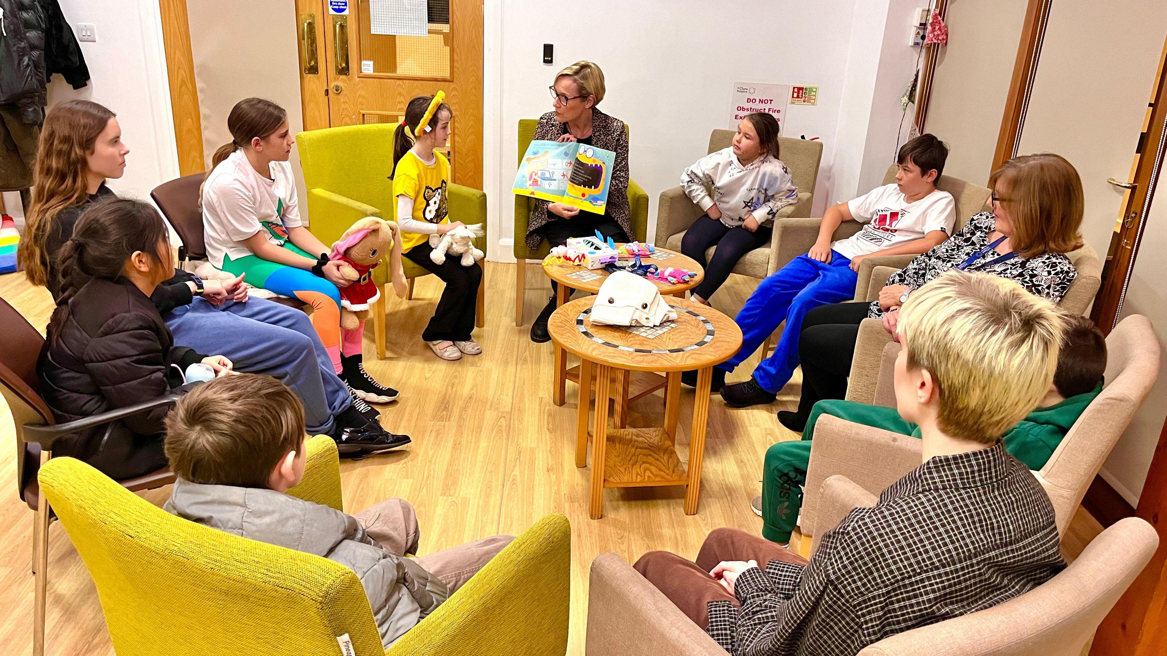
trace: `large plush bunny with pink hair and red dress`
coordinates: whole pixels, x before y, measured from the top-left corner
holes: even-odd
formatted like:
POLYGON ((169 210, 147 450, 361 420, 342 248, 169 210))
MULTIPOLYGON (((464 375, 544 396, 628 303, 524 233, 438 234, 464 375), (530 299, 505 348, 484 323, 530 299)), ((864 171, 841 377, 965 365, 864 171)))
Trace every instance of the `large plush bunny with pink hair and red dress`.
POLYGON ((405 271, 401 268, 401 239, 397 224, 376 216, 358 219, 333 244, 328 259, 341 260, 341 275, 352 282, 341 287, 341 328, 352 330, 369 317, 369 303, 380 299, 372 281, 372 270, 389 254, 389 277, 398 298, 405 296, 405 271))

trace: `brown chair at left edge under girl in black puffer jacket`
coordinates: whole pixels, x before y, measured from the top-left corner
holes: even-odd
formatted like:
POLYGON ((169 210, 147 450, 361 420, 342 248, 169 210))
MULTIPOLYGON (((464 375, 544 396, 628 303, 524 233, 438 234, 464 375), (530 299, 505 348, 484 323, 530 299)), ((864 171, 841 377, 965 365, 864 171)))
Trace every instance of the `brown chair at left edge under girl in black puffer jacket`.
MULTIPOLYGON (((36 577, 33 654, 40 656, 44 652, 44 594, 48 585, 46 566, 51 515, 49 504, 40 503, 36 472, 53 456, 53 445, 60 438, 103 425, 111 431, 118 419, 162 405, 173 405, 179 397, 168 395, 68 424, 57 424, 49 405, 41 397, 41 381, 36 376, 36 360, 44 337, 4 299, 0 299, 0 334, 5 336, 5 346, 0 348, 0 393, 12 410, 18 438, 16 491, 36 511, 33 523, 33 574, 36 577)), ((118 482, 130 491, 148 490, 173 483, 174 474, 169 469, 159 469, 118 482)))

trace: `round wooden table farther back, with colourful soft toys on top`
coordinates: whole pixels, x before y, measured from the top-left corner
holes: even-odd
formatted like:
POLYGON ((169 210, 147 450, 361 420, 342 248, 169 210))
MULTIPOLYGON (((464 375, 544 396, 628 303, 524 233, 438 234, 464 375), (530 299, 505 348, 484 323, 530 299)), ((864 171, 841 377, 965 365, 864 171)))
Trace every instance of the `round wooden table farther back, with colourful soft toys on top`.
MULTIPOLYGON (((685 268, 687 271, 697 272, 696 277, 680 284, 652 280, 652 284, 661 289, 662 296, 685 298, 685 292, 700 285, 701 280, 705 279, 705 270, 701 268, 701 265, 697 264, 697 260, 668 249, 656 249, 652 257, 641 258, 641 263, 655 264, 662 270, 671 266, 673 268, 685 268)), ((608 272, 602 268, 589 270, 576 264, 550 264, 544 266, 543 271, 547 274, 547 278, 558 282, 555 292, 557 306, 562 306, 568 299, 572 298, 572 289, 580 289, 581 292, 594 294, 600 291, 600 285, 603 285, 603 281, 608 279, 608 272)), ((552 400, 555 405, 564 405, 565 403, 565 397, 567 395, 567 381, 573 383, 580 382, 580 368, 573 367, 568 369, 565 355, 564 349, 557 346, 555 389, 552 392, 552 400)), ((665 379, 663 376, 657 376, 656 374, 630 374, 628 370, 623 370, 616 374, 616 412, 614 419, 616 426, 623 428, 628 412, 628 402, 636 400, 659 390, 665 385, 665 379)))

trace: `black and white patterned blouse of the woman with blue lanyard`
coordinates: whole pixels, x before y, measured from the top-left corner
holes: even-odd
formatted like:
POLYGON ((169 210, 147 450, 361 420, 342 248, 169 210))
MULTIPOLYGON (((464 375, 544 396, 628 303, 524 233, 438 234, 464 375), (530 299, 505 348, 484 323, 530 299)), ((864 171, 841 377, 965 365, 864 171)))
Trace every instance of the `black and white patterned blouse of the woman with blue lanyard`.
MULTIPOLYGON (((927 253, 911 260, 908 266, 896 271, 887 279, 888 285, 906 285, 918 289, 941 273, 956 268, 970 256, 990 244, 988 233, 994 230, 997 217, 991 211, 983 211, 969 219, 956 235, 932 247, 927 253)), ((1001 278, 1008 278, 1025 287, 1030 294, 1061 302, 1070 282, 1078 272, 1070 258, 1062 253, 1042 253, 1033 258, 1016 257, 1006 261, 992 263, 995 256, 990 254, 973 263, 967 271, 981 271, 1001 278)), ((883 310, 879 301, 872 301, 867 316, 879 319, 883 310)))

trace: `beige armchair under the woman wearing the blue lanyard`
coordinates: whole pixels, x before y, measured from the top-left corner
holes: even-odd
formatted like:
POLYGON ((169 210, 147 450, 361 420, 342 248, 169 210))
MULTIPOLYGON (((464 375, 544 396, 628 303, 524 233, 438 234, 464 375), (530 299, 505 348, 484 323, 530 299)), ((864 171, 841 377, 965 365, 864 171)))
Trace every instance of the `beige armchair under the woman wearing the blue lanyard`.
MULTIPOLYGON (((1060 303, 1063 309, 1074 314, 1085 314, 1102 285, 1102 260, 1090 245, 1065 253, 1074 263, 1078 274, 1070 282, 1060 303)), ((892 256, 890 258, 867 258, 859 265, 859 280, 855 284, 857 301, 874 301, 879 292, 887 285, 893 273, 903 268, 914 256, 892 256), (871 265, 872 260, 889 260, 907 258, 896 267, 871 265)), ((865 319, 859 324, 859 336, 855 340, 855 355, 851 361, 851 376, 847 379, 847 400, 873 405, 875 384, 879 378, 883 347, 892 343, 892 335, 878 319, 865 319)))

